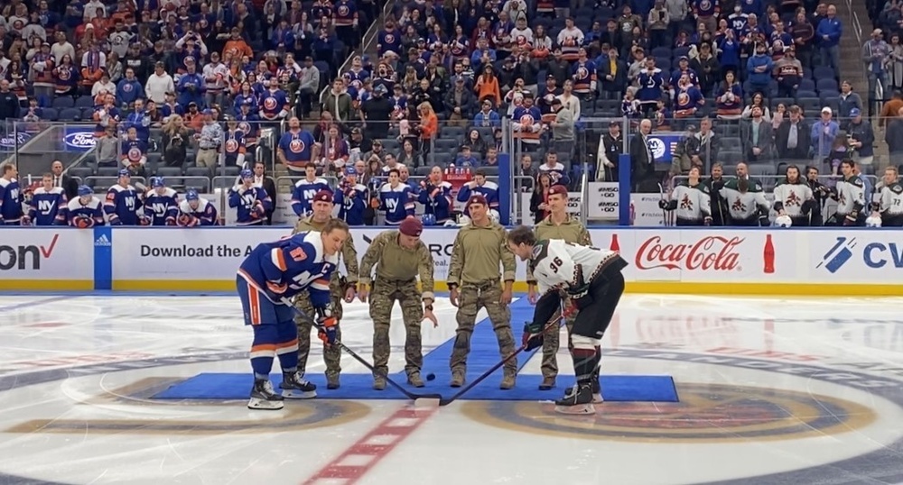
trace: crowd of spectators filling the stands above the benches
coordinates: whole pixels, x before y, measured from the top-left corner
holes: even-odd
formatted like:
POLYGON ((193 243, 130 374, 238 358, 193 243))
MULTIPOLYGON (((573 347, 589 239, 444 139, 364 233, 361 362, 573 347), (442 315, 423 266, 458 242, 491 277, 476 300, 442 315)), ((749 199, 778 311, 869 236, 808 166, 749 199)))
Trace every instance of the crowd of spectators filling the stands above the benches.
MULTIPOLYGON (((94 175, 202 175, 223 154, 237 175, 263 154, 337 179, 358 163, 377 182, 435 165, 491 177, 512 147, 518 175, 565 185, 583 161, 591 178, 617 180, 625 151, 639 189, 715 162, 745 161, 753 175, 780 163, 840 173, 846 159, 874 171, 871 96, 855 90, 870 87, 840 77, 848 26, 836 5, 423 0, 381 17, 383 6, 12 0, 0 118, 97 124, 94 175), (338 72, 377 18, 376 51, 338 72), (256 151, 266 129, 277 142, 256 151), (672 130, 687 136, 658 164, 647 136, 672 130)), ((892 45, 899 3, 870 8, 892 45)))

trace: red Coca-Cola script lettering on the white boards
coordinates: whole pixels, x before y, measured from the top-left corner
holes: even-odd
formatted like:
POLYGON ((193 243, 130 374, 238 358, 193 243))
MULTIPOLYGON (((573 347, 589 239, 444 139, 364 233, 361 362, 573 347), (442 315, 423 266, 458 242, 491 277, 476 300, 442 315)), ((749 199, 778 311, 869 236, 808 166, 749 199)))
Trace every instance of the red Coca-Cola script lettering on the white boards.
POLYGON ((737 246, 743 241, 739 237, 706 236, 694 244, 663 244, 662 238, 655 236, 639 246, 635 262, 640 270, 732 271, 738 269, 737 246))

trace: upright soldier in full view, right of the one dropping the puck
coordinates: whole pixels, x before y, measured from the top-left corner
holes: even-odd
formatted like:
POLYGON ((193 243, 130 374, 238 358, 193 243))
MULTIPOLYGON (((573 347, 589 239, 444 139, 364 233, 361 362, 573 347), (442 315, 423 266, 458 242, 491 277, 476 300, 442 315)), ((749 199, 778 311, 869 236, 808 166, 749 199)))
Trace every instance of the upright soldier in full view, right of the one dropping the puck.
MULTIPOLYGON (((486 308, 489 321, 498 338, 498 351, 504 359, 515 352, 514 333, 511 331, 511 288, 514 286, 516 262, 507 247, 505 228, 489 220, 489 204, 486 197, 471 196, 467 202, 470 224, 461 227, 452 247, 449 267, 449 298, 458 307, 458 329, 452 350, 452 388, 464 385, 467 372, 467 354, 470 353, 470 335, 480 307, 486 308), (501 263, 502 281, 498 266, 501 263)), ((505 364, 501 389, 515 386, 517 361, 505 364)))

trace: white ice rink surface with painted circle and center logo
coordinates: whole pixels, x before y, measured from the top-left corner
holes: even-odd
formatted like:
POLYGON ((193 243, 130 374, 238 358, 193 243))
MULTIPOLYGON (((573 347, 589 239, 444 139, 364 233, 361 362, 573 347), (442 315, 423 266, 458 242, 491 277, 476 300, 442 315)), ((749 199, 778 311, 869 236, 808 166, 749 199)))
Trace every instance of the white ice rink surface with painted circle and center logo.
MULTIPOLYGON (((899 483, 901 304, 629 295, 602 372, 672 375, 681 402, 562 416, 539 402, 154 400, 201 372, 249 371, 236 297, 4 296, 0 484, 899 483)), ((424 351, 454 335, 447 299, 436 314, 424 351)), ((400 317, 391 371, 404 364, 400 317)), ((364 304, 346 306, 342 332, 371 358, 364 304)), ((323 370, 317 347, 309 373, 323 370)), ((565 348, 559 365, 550 399, 573 382, 565 348)))

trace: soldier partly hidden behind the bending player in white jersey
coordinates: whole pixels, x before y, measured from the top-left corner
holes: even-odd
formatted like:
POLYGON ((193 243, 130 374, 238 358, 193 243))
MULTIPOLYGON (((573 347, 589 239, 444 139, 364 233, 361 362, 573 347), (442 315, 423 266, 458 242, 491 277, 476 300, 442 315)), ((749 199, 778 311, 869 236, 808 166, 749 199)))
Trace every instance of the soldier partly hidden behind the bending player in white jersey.
MULTIPOLYGON (((573 242, 582 246, 591 246, 592 241, 590 232, 575 217, 567 213, 567 188, 562 185, 556 185, 549 189, 548 205, 549 214, 533 229, 536 234, 537 241, 548 241, 551 239, 561 239, 564 242, 573 242)), ((536 303, 538 294, 536 293, 536 279, 533 277, 533 271, 530 265, 526 265, 526 284, 527 298, 531 304, 536 303)), ((565 303, 566 305, 566 303, 565 303)), ((564 320, 567 326, 568 334, 571 334, 574 316, 568 316, 564 320)), ((555 387, 555 377, 558 376, 558 360, 556 354, 560 346, 560 329, 554 326, 548 329, 543 340, 543 382, 539 385, 540 390, 549 390, 555 387)), ((568 348, 571 347, 570 339, 568 339, 568 348)))

